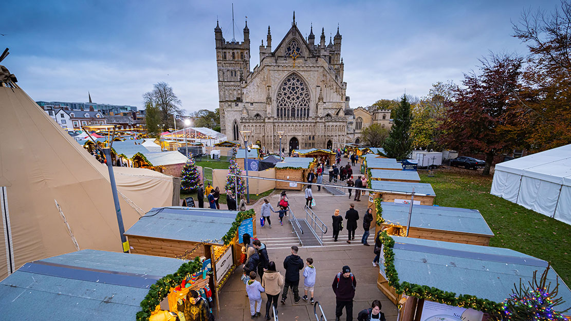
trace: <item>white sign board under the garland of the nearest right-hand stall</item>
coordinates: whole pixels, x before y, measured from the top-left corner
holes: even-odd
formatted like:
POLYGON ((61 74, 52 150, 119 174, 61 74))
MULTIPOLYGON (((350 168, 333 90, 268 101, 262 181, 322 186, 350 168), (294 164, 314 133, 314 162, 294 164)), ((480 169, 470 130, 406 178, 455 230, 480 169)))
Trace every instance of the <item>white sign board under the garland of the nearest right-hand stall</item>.
POLYGON ((424 300, 421 321, 482 321, 484 313, 472 308, 453 307, 424 300))

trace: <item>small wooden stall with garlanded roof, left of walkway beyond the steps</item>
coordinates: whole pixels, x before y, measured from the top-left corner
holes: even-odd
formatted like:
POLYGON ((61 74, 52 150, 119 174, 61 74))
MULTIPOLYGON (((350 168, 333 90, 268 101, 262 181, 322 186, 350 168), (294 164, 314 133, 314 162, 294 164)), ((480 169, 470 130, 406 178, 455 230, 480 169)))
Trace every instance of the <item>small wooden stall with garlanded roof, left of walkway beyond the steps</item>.
MULTIPOLYGON (((279 180, 304 182, 309 173, 313 169, 317 161, 305 157, 284 157, 283 161, 276 164, 276 178, 279 180)), ((276 182, 276 189, 301 190, 303 184, 276 182)))

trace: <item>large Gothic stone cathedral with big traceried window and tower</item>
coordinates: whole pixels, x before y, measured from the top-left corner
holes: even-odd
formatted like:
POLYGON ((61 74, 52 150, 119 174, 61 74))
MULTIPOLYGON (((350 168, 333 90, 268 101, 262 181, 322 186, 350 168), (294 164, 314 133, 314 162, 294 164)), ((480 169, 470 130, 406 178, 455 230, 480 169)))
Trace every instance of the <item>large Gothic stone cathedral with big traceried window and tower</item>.
POLYGON ((313 27, 304 38, 295 22, 272 48, 268 26, 266 45, 260 46, 260 64, 250 70, 250 30, 246 22, 244 41, 227 42, 218 23, 216 65, 220 127, 228 140, 242 141, 269 151, 278 151, 279 135, 283 132, 282 148, 338 148, 353 143, 355 129, 347 83, 343 82, 341 35, 329 38, 321 29, 315 43, 313 27))

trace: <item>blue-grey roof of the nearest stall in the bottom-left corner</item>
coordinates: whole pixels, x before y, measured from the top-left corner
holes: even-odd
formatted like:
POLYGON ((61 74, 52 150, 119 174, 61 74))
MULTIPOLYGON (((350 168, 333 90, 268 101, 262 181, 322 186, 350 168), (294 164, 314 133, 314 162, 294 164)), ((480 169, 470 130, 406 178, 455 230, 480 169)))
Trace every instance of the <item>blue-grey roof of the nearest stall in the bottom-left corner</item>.
POLYGON ((149 287, 183 261, 82 250, 26 263, 0 282, 3 320, 135 319, 149 287))

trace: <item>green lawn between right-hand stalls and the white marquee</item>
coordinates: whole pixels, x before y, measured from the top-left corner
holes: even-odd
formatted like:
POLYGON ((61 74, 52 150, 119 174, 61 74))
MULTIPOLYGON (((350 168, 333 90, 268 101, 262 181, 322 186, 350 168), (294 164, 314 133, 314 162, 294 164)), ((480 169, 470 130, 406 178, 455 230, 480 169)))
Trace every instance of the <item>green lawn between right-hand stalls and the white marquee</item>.
POLYGON ((435 177, 419 174, 422 182, 432 184, 435 204, 480 211, 495 234, 490 246, 544 259, 571 285, 571 226, 493 196, 492 176, 459 169, 437 172, 435 177))

